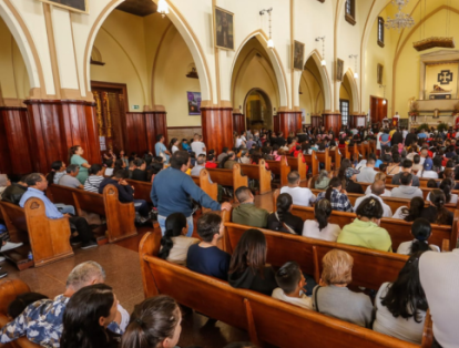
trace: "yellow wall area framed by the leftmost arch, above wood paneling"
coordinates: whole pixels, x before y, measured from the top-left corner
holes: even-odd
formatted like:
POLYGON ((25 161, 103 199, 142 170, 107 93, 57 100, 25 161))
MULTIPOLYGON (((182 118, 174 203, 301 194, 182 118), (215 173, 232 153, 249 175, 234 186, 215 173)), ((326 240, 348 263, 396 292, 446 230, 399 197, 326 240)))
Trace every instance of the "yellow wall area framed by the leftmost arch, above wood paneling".
POLYGON ((30 83, 21 52, 0 18, 0 105, 2 99, 23 100, 29 95, 30 83))

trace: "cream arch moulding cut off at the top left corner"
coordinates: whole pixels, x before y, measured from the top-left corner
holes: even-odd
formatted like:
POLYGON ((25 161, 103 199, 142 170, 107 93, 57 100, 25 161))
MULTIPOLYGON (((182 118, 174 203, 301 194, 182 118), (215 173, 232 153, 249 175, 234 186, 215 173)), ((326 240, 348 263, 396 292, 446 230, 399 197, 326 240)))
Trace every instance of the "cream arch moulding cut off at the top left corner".
POLYGON ((20 18, 19 13, 13 10, 14 9, 9 8, 4 1, 0 2, 0 17, 7 24, 19 47, 19 50, 21 51, 29 75, 30 88, 32 90, 42 88, 44 90, 44 78, 37 48, 34 47, 26 23, 20 18))

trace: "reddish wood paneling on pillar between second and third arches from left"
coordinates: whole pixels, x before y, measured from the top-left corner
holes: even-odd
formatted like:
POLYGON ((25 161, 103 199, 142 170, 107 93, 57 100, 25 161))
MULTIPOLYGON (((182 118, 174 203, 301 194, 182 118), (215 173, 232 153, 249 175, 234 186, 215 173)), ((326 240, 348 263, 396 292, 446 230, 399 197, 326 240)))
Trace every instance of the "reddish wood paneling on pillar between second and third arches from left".
POLYGON ((222 153, 223 147, 233 147, 233 109, 201 109, 201 124, 206 149, 222 153))

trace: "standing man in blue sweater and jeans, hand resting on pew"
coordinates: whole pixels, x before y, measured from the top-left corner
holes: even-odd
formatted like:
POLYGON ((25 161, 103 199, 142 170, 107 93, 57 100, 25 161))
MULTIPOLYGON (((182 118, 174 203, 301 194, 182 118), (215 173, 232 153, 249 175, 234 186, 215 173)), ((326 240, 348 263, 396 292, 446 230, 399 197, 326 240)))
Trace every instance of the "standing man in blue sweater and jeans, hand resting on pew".
POLYGON ((161 231, 165 233, 165 219, 173 213, 182 213, 188 223, 188 237, 193 234, 193 203, 191 198, 203 207, 212 211, 230 211, 232 205, 227 202, 220 204, 213 201, 193 178, 185 172, 190 166, 190 154, 186 151, 176 151, 171 157, 171 166, 156 174, 150 196, 157 207, 157 222, 161 231))

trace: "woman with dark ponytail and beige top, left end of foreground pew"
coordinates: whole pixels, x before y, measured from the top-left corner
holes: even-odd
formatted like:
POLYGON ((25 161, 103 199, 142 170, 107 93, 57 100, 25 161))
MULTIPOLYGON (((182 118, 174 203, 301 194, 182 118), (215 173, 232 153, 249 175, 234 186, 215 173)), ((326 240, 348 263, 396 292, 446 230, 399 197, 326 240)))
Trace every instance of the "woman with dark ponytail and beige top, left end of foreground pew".
POLYGON ((165 221, 165 233, 161 238, 161 249, 157 255, 170 263, 186 266, 186 255, 190 246, 200 243, 200 239, 186 237, 188 224, 182 213, 174 213, 165 221))

